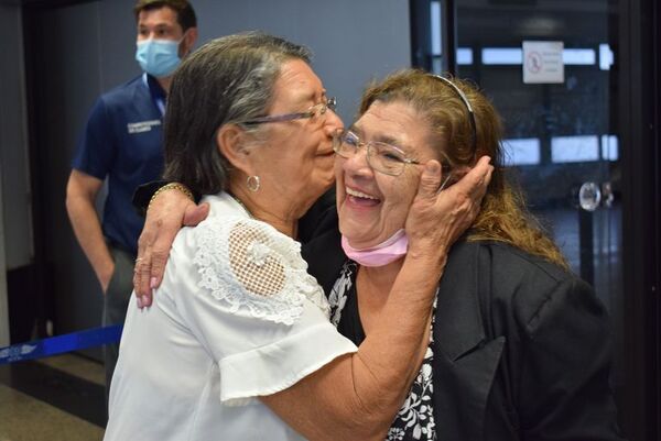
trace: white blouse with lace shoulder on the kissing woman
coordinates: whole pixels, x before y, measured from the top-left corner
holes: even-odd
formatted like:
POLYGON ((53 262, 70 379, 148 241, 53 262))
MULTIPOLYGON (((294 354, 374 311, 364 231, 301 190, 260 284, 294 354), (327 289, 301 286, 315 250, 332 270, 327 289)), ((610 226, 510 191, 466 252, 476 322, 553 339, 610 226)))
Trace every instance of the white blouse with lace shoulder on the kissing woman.
POLYGON ((106 440, 300 440, 256 397, 355 352, 300 245, 228 195, 183 229, 154 305, 127 313, 106 440))

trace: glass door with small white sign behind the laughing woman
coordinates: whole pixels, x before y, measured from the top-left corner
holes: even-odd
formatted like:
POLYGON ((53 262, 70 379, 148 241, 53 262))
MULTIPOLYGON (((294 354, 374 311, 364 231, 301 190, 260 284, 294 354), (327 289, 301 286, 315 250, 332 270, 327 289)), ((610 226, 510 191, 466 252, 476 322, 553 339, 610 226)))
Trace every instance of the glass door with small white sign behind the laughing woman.
POLYGON ((454 68, 491 98, 503 118, 511 178, 572 269, 608 308, 614 385, 621 389, 617 2, 431 1, 429 19, 429 66, 436 73, 454 68))

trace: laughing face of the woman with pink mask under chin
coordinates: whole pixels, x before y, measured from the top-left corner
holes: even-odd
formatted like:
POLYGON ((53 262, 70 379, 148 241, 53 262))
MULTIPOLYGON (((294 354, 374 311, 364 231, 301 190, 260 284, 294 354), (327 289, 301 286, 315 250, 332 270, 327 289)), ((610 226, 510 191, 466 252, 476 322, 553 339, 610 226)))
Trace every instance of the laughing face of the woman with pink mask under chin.
MULTIPOLYGON (((402 101, 375 101, 353 125, 362 142, 381 141, 402 150, 421 164, 438 159, 430 145, 427 123, 402 101)), ((376 246, 404 227, 418 191, 422 167, 407 165, 399 176, 375 172, 366 148, 351 158, 336 156, 339 230, 356 249, 376 246)))

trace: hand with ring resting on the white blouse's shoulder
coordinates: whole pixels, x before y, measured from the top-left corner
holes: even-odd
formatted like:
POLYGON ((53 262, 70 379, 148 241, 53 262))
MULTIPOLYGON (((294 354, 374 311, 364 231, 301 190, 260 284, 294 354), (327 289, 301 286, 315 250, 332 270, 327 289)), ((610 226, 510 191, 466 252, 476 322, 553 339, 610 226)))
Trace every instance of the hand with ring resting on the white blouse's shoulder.
POLYGON ((163 279, 165 263, 176 233, 182 227, 197 225, 208 213, 208 203, 197 206, 178 190, 163 191, 150 203, 144 228, 138 240, 138 258, 133 273, 138 307, 151 305, 152 290, 163 279))

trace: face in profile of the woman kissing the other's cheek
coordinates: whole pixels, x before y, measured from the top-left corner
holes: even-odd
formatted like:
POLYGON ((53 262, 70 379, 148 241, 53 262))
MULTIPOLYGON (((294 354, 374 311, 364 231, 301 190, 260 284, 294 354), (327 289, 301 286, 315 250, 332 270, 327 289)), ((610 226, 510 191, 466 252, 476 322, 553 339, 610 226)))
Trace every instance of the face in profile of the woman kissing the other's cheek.
MULTIPOLYGON (((267 114, 305 112, 325 102, 322 81, 300 59, 282 65, 267 114)), ((342 128, 340 119, 327 109, 321 117, 264 124, 268 140, 252 151, 253 173, 269 203, 302 216, 334 180, 333 133, 342 128)), ((262 190, 260 190, 262 191, 262 190)))

